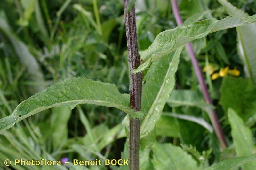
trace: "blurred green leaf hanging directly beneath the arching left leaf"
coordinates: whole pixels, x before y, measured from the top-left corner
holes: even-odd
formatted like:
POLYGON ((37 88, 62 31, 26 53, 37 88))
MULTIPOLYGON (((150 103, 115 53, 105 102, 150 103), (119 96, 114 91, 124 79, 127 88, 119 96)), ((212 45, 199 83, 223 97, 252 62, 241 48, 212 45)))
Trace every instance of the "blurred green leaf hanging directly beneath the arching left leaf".
POLYGON ((52 143, 54 149, 58 149, 61 145, 64 145, 68 139, 68 120, 70 118, 71 111, 68 107, 53 107, 50 117, 52 127, 52 143))

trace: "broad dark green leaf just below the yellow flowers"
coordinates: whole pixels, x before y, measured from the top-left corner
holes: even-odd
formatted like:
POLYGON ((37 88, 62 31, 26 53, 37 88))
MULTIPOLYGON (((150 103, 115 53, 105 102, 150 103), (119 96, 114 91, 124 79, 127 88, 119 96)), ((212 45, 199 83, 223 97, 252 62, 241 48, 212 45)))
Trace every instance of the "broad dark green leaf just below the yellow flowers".
POLYGON ((256 122, 256 86, 250 79, 225 77, 219 102, 226 113, 232 108, 246 124, 252 126, 256 122))

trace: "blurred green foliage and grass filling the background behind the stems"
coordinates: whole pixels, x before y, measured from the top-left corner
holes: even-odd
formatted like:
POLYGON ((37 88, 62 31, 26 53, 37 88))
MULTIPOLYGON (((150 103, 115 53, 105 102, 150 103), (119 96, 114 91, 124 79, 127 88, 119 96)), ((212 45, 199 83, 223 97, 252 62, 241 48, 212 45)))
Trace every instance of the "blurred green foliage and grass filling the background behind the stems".
MULTIPOLYGON (((183 20, 198 13, 202 19, 256 13, 255 1, 230 2, 178 1, 183 20)), ((2 0, 0 4, 1 118, 10 115, 31 95, 71 77, 115 84, 118 101, 126 102, 127 96, 118 94, 129 93, 122 0, 2 0)), ((168 0, 137 0, 135 7, 141 51, 148 49, 160 32, 176 27, 168 0)), ((204 102, 185 48, 154 61, 143 72, 142 111, 149 113, 145 118, 148 122, 156 120, 150 115, 157 115, 159 120, 154 122, 156 128, 145 125, 141 131, 141 149, 146 148, 140 153, 141 169, 214 169, 220 165, 225 169, 233 168, 237 162, 242 164, 255 159, 255 156, 248 156, 255 154, 255 28, 255 24, 249 24, 193 41, 228 142, 225 150, 220 148, 207 115, 207 109, 213 106, 204 102), (169 67, 170 62, 173 65, 169 67), (177 69, 176 78, 175 72, 168 72, 168 67, 177 69), (164 79, 166 72, 173 80, 164 79), (163 96, 158 96, 161 101, 155 102, 161 86, 163 96), (167 96, 164 90, 172 88, 175 88, 172 95, 167 96), (166 104, 163 99, 167 100, 166 104), (161 117, 160 107, 163 107, 161 117), (148 138, 146 133, 156 134, 156 138, 148 138), (219 161, 222 162, 209 167, 219 161)), ((106 89, 107 86, 113 85, 106 84, 106 89)), ((107 98, 110 97, 105 95, 103 99, 102 96, 103 100, 107 98)), ((128 120, 125 116, 123 111, 104 105, 83 104, 73 110, 66 106, 44 110, 0 135, 0 166, 5 167, 5 159, 127 158, 127 129, 124 127, 128 120)), ((255 161, 251 161, 241 167, 250 169, 254 164, 255 161)), ((66 169, 65 166, 84 168, 71 165, 61 168, 66 169)), ((14 168, 41 169, 38 166, 14 168)))

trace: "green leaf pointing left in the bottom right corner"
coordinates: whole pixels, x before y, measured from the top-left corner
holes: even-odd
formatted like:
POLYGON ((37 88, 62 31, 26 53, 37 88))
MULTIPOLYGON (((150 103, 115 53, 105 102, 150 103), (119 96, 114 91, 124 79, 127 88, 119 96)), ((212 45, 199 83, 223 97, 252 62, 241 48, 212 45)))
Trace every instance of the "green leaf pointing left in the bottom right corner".
MULTIPOLYGON (((237 158, 231 158, 231 159, 225 159, 222 160, 216 164, 213 164, 212 166, 206 168, 205 170, 229 170, 229 169, 234 169, 237 166, 241 166, 245 163, 250 163, 250 161, 256 159, 256 154, 249 155, 249 156, 242 156, 242 157, 237 157, 237 158)), ((252 167, 250 168, 252 169, 252 167)))

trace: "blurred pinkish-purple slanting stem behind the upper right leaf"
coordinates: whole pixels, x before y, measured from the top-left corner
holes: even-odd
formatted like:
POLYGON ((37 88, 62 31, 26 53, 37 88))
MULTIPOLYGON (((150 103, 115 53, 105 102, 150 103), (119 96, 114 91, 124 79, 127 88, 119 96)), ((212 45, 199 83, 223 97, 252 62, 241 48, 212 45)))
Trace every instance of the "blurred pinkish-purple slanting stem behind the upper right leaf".
MULTIPOLYGON (((174 17, 176 19, 176 22, 177 22, 178 26, 181 26, 183 24, 183 21, 182 21, 181 16, 180 16, 180 11, 179 11, 178 4, 177 4, 176 0, 171 0, 171 3, 172 3, 172 10, 173 10, 173 14, 174 14, 174 17)), ((202 88, 202 91, 203 91, 203 94, 204 94, 204 99, 207 103, 212 104, 212 99, 211 99, 210 94, 207 90, 207 86, 204 82, 204 77, 203 77, 203 74, 202 74, 202 70, 199 67, 199 64, 198 64, 198 61, 196 59, 196 55, 195 55, 195 52, 192 48, 191 43, 186 44, 186 49, 187 49, 189 57, 191 59, 191 63, 193 65, 193 68, 196 72, 197 80, 198 80, 198 82, 199 82, 199 84, 202 88)), ((209 117, 210 117, 210 120, 212 122, 212 126, 213 126, 214 131, 216 133, 216 136, 217 136, 217 138, 220 142, 220 146, 221 146, 222 149, 225 149, 227 147, 227 143, 226 143, 226 140, 225 140, 224 133, 221 129, 220 122, 219 122, 219 119, 218 119, 218 115, 217 115, 215 109, 211 110, 211 112, 209 114, 210 114, 209 117)))

